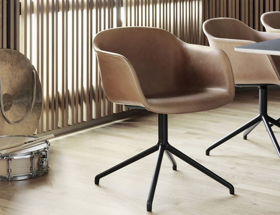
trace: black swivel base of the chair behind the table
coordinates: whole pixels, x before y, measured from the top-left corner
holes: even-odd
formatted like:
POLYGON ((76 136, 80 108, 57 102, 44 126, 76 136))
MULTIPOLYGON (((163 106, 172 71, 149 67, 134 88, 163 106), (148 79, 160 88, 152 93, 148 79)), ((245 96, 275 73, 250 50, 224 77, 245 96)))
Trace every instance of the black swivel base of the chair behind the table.
POLYGON ((236 129, 232 133, 228 134, 226 137, 222 138, 212 146, 209 146, 206 149, 206 155, 209 155, 210 151, 217 146, 221 145, 222 143, 228 141, 229 139, 233 138, 237 134, 241 133, 242 131, 246 131, 243 134, 243 139, 247 140, 247 135, 257 126, 260 122, 263 122, 266 128, 266 131, 268 132, 268 135, 276 149, 276 152, 278 156, 280 157, 280 147, 278 145, 278 142, 273 134, 273 131, 271 129, 271 125, 269 123, 272 123, 272 125, 276 125, 280 127, 280 122, 273 119, 267 114, 267 88, 268 86, 258 86, 259 87, 259 115, 257 115, 254 119, 247 122, 245 125, 242 125, 240 128, 236 129))

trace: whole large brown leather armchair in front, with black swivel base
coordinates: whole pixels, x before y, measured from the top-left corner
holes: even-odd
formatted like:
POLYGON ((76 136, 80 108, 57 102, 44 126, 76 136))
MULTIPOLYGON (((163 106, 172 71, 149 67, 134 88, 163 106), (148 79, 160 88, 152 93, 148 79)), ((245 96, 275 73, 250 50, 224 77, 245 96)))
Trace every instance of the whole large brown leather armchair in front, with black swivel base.
POLYGON ((100 173, 99 179, 159 150, 147 201, 152 202, 163 153, 172 154, 215 179, 234 193, 233 186, 168 143, 167 114, 210 110, 230 103, 234 97, 232 68, 217 48, 184 43, 166 30, 121 27, 104 30, 93 42, 104 92, 108 99, 132 108, 158 113, 158 143, 100 173))

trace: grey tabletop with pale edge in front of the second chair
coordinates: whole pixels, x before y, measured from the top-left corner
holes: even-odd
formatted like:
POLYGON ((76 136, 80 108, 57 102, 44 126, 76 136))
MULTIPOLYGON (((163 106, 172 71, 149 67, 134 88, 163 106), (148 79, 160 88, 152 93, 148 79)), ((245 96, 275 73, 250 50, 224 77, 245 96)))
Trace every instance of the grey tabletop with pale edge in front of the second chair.
POLYGON ((245 46, 237 46, 234 50, 255 54, 280 55, 280 38, 259 43, 252 43, 245 46))

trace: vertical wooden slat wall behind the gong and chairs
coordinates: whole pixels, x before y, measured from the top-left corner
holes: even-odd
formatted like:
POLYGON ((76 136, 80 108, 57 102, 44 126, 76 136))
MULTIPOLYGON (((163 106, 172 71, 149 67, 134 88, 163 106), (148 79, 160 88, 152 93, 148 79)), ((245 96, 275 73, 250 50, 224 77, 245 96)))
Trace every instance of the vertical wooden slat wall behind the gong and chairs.
POLYGON ((232 17, 263 31, 260 16, 279 0, 0 0, 0 48, 26 55, 41 79, 37 133, 112 115, 101 86, 92 40, 121 26, 166 29, 187 43, 208 45, 203 21, 232 17))

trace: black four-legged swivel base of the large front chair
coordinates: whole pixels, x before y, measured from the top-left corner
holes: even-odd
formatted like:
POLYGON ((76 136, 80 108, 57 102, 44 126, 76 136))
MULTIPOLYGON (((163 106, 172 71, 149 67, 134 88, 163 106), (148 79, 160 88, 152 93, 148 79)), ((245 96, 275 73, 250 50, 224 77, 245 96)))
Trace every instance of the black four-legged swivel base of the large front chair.
POLYGON ((167 115, 166 114, 158 114, 158 127, 159 127, 159 140, 156 145, 154 145, 154 146, 146 149, 145 151, 125 160, 124 162, 96 175, 95 179, 94 179, 94 183, 98 185, 100 178, 102 178, 106 175, 109 175, 110 173, 115 172, 116 170, 123 168, 124 166, 127 166, 130 163, 140 160, 141 158, 146 157, 147 155, 149 155, 155 151, 159 151, 157 159, 156 159, 156 166, 154 169, 153 179, 152 179, 150 192, 149 192, 149 196, 148 196, 148 200, 147 200, 147 211, 152 211, 152 203, 153 203, 153 198, 154 198, 154 194, 155 194, 155 190, 156 190, 156 183, 157 183, 157 179, 159 177, 160 166, 161 166, 164 152, 166 153, 167 157, 171 161, 173 170, 176 170, 177 165, 176 165, 176 161, 174 160, 172 154, 179 157, 186 163, 190 164, 191 166, 195 167, 199 171, 203 172, 204 174, 210 176, 212 179, 216 180, 217 182, 221 183, 222 185, 226 186, 227 188, 229 188, 229 193, 234 194, 234 188, 229 182, 222 179, 219 175, 216 175, 214 172, 210 171, 209 169, 206 169, 204 166, 200 165, 195 160, 186 156, 184 153, 180 152, 178 149, 174 148, 173 146, 171 146, 168 143, 168 141, 167 141, 167 115))

